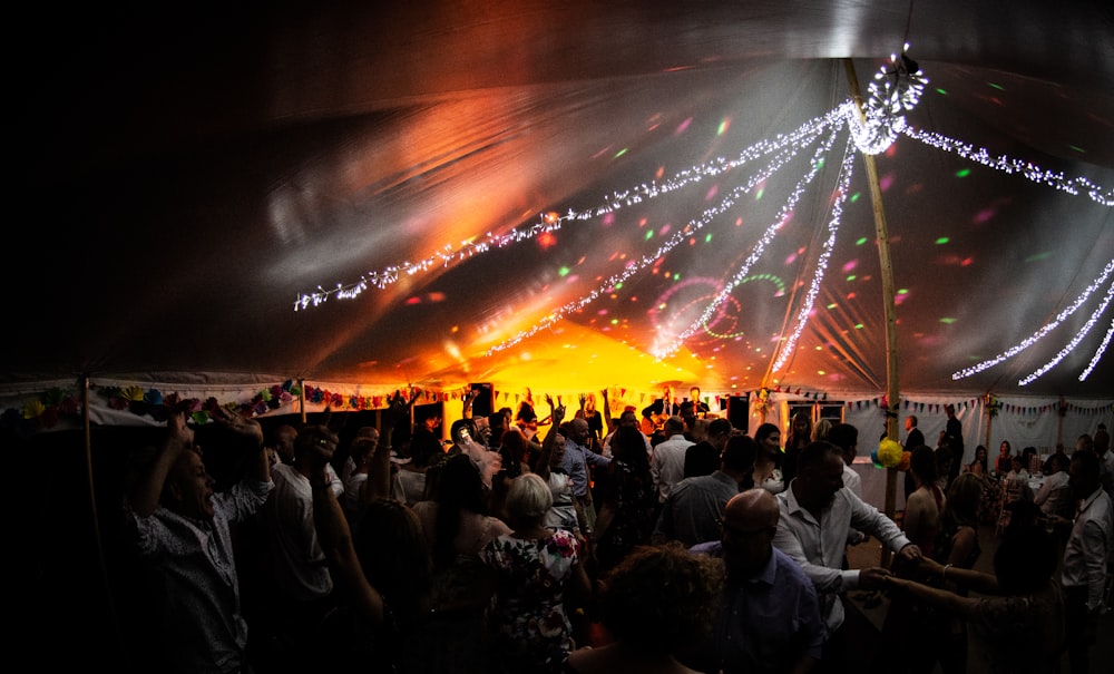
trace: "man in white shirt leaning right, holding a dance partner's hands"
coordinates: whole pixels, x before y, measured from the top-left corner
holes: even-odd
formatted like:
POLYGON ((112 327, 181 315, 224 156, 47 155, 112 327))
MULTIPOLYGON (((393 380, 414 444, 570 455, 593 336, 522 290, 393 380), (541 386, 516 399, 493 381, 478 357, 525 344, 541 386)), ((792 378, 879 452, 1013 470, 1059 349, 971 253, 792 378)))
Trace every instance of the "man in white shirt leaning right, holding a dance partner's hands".
POLYGON ((778 495, 781 519, 773 545, 801 565, 820 597, 824 619, 822 672, 847 668, 843 604, 839 595, 852 589, 879 589, 888 569, 841 569, 848 533, 872 535, 906 560, 920 559, 920 548, 893 521, 843 489, 843 459, 830 442, 813 442, 798 457, 798 473, 778 495))

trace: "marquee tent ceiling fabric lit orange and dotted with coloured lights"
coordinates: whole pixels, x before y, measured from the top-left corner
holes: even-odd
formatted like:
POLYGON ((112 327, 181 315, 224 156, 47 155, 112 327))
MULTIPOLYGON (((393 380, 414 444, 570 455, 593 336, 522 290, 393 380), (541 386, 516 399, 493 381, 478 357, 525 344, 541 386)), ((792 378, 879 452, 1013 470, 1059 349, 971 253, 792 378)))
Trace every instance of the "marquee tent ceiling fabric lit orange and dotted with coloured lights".
MULTIPOLYGON (((19 80, 23 207, 9 252, 30 270, 12 315, 33 321, 13 322, 0 381, 228 372, 885 391, 861 156, 825 247, 846 128, 746 192, 733 191, 773 155, 607 205, 822 117, 850 97, 843 59, 866 91, 905 40, 930 80, 911 127, 1084 176, 1107 201, 1114 188, 1106 2, 280 4, 31 18, 50 30, 19 80), (351 300, 333 293, 546 213, 592 215, 351 300), (319 289, 326 302, 294 311, 319 289), (684 348, 654 359, 692 325, 684 348)), ((877 162, 903 392, 1114 394, 1112 354, 1078 381, 1114 315, 1101 311, 1112 281, 1095 284, 1114 258, 1111 206, 906 136, 877 162), (1036 344, 952 380, 1088 286, 1036 344)))

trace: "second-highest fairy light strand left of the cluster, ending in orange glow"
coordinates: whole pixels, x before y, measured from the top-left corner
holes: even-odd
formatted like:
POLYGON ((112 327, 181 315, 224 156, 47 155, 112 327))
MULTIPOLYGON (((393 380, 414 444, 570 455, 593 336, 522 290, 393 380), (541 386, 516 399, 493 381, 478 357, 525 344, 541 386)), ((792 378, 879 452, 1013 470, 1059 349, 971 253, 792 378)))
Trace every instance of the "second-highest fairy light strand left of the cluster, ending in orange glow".
MULTIPOLYGON (((822 126, 814 129, 817 134, 819 134, 819 131, 822 131, 824 126, 827 126, 827 124, 828 123, 824 121, 822 126)), ((631 276, 634 276, 636 273, 641 272, 647 266, 651 266, 654 263, 656 263, 658 258, 661 258, 663 255, 667 254, 670 251, 675 248, 686 238, 691 237, 693 234, 698 232, 701 228, 704 227, 704 225, 706 225, 712 219, 714 219, 715 217, 717 217, 719 215, 723 214, 729 208, 734 206, 735 199, 737 199, 740 196, 749 193, 756 185, 759 185, 760 183, 769 178, 771 175, 780 170, 781 167, 784 166, 786 162, 792 159, 801 149, 811 144, 811 141, 817 138, 817 134, 809 134, 807 136, 807 140, 809 140, 808 144, 803 145, 793 144, 789 148, 784 149, 773 160, 771 160, 770 164, 768 164, 762 172, 751 176, 751 178, 744 185, 736 185, 734 188, 732 188, 732 191, 727 193, 727 195, 720 202, 717 206, 715 206, 714 208, 705 209, 698 218, 693 218, 692 221, 690 221, 687 225, 682 227, 677 233, 675 233, 673 236, 666 240, 666 242, 662 244, 657 248, 657 251, 654 252, 653 255, 644 255, 637 262, 635 261, 628 262, 620 273, 609 276, 606 281, 604 281, 603 284, 598 285, 595 290, 590 291, 588 294, 571 302, 568 302, 565 305, 554 310, 547 316, 545 316, 540 322, 536 323, 534 326, 520 331, 514 336, 508 338, 507 340, 500 342, 499 344, 496 344, 495 346, 488 350, 488 355, 498 353, 499 351, 504 351, 510 346, 514 346, 515 344, 521 342, 527 338, 534 336, 538 332, 549 328, 554 323, 557 323, 569 313, 578 311, 584 306, 590 304, 599 295, 607 292, 608 289, 615 287, 619 283, 623 283, 624 281, 626 281, 631 276)))

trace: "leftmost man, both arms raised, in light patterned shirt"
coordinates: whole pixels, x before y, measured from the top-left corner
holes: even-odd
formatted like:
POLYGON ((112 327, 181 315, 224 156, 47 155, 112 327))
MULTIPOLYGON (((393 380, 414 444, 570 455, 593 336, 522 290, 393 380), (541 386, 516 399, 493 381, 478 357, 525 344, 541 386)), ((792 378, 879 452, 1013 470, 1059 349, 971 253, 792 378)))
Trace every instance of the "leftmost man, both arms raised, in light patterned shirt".
MULTIPOLYGON (((270 461, 257 421, 218 409, 215 421, 254 446, 244 479, 223 494, 205 469, 194 431, 177 411, 166 421, 167 438, 125 501, 126 527, 136 551, 149 565, 145 588, 158 643, 160 672, 241 672, 247 668, 247 623, 241 609, 241 582, 232 527, 244 522, 267 499, 270 461)), ((228 445, 214 448, 228 451, 228 445)))

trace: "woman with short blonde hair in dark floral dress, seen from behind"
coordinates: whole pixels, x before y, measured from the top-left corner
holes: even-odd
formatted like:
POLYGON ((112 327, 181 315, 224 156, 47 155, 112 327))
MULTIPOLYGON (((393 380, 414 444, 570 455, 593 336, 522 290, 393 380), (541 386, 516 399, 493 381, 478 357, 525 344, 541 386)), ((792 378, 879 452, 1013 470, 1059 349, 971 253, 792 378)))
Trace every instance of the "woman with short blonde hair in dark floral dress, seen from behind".
POLYGON ((489 621, 494 672, 558 672, 575 646, 566 605, 587 606, 592 586, 576 537, 543 525, 551 504, 539 476, 515 478, 506 502, 514 530, 480 553, 498 576, 489 621))

